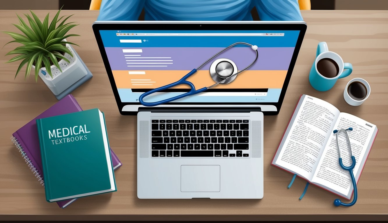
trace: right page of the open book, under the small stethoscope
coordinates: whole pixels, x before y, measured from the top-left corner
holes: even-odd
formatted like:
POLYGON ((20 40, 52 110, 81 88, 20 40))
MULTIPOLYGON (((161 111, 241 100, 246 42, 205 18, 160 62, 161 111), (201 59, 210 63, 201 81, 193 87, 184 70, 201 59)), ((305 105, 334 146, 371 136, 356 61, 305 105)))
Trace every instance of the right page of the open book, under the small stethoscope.
MULTIPOLYGON (((352 147, 352 154, 356 159, 353 174, 357 182, 365 164, 367 155, 371 149, 374 136, 377 134, 377 128, 376 125, 366 122, 359 117, 348 113, 340 113, 334 129, 347 129, 349 127, 353 128, 352 131, 346 132, 348 132, 350 145, 352 147)), ((345 166, 350 166, 352 164, 352 160, 345 132, 341 131, 338 135, 338 143, 340 145, 343 164, 345 166)), ((313 181, 329 188, 343 197, 350 199, 353 191, 350 174, 349 171, 341 168, 338 158, 339 155, 336 134, 331 132, 313 181)))

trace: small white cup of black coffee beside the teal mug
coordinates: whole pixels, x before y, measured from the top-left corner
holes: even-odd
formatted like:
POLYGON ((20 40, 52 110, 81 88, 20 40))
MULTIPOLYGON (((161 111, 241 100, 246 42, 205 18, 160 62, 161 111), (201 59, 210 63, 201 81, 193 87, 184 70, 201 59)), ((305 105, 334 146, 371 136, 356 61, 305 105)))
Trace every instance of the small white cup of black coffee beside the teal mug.
POLYGON ((354 78, 346 84, 343 91, 343 98, 346 103, 352 106, 359 106, 371 94, 371 86, 362 78, 354 78))

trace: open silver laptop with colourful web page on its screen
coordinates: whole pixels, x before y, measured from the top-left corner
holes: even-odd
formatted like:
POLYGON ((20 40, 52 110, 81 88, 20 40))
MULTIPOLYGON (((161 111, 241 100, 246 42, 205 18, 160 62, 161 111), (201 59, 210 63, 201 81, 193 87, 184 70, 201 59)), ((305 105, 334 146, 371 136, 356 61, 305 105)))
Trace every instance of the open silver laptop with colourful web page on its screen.
MULTIPOLYGON (((142 199, 261 199, 263 115, 277 115, 306 31, 305 22, 98 21, 93 30, 119 112, 137 114, 137 196, 142 199), (258 59, 229 84, 164 105, 139 96, 178 81, 236 42, 258 59)), ((211 63, 241 70, 255 59, 233 46, 187 79, 213 85, 211 63)), ((147 96, 159 101, 182 85, 147 96)))

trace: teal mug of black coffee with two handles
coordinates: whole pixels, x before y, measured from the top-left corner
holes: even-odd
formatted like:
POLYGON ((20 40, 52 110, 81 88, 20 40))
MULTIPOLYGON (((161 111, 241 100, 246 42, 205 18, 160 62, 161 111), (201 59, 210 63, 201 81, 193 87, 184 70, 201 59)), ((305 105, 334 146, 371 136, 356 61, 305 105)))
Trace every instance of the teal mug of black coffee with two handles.
POLYGON ((340 55, 329 51, 326 42, 320 42, 314 64, 308 77, 317 91, 330 90, 338 79, 349 76, 353 71, 350 63, 344 63, 340 55))

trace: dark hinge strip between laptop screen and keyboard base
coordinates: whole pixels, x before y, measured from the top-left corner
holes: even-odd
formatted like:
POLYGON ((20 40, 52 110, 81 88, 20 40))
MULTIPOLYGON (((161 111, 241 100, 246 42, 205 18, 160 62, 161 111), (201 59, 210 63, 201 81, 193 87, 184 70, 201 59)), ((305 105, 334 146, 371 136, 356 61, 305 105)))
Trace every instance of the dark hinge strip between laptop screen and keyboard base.
POLYGON ((140 107, 139 112, 227 112, 227 113, 241 113, 241 112, 261 112, 260 107, 257 108, 152 108, 152 107, 140 107))

